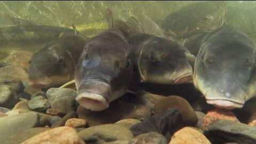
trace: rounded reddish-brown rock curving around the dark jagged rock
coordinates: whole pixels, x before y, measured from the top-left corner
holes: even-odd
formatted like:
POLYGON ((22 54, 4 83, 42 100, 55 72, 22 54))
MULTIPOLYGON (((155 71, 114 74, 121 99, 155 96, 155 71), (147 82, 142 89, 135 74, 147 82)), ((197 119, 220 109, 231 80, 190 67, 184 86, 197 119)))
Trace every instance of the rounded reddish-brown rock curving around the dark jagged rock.
POLYGON ((191 126, 197 124, 198 119, 196 113, 187 100, 175 95, 165 97, 155 104, 154 110, 156 114, 159 114, 168 108, 179 109, 184 123, 191 126))

